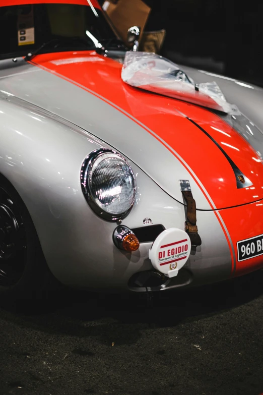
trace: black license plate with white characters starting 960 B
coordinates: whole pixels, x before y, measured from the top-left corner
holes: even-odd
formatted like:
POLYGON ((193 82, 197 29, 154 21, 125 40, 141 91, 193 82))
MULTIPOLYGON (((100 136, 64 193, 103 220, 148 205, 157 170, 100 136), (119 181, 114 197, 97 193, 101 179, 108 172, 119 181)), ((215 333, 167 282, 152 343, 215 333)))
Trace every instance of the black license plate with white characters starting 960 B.
POLYGON ((237 242, 238 262, 259 255, 263 255, 263 235, 251 237, 250 239, 245 239, 237 242))

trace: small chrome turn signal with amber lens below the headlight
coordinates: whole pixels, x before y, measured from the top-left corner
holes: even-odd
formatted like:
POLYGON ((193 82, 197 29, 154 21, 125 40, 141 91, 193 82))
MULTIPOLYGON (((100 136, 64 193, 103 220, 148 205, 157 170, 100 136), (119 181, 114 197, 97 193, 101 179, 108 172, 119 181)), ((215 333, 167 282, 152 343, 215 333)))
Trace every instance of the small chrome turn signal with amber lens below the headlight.
POLYGON ((113 232, 113 243, 120 250, 133 252, 138 250, 140 242, 134 232, 124 225, 119 225, 113 232))

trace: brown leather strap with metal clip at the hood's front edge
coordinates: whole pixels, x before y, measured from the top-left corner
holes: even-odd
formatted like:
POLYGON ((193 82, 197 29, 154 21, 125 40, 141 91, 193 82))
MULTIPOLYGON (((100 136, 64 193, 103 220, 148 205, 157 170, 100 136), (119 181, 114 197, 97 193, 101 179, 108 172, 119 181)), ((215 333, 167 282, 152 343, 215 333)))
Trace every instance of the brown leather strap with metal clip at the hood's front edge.
POLYGON ((188 234, 192 246, 201 246, 202 240, 196 226, 196 205, 191 193, 188 180, 180 180, 182 195, 186 201, 185 232, 188 234))

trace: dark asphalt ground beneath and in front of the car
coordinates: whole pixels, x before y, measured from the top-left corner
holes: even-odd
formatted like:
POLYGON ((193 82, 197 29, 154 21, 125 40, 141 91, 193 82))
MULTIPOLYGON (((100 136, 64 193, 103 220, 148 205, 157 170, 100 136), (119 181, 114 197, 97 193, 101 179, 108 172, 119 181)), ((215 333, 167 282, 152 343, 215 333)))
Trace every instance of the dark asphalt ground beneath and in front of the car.
POLYGON ((67 291, 0 310, 0 393, 259 395, 263 271, 145 296, 67 291))

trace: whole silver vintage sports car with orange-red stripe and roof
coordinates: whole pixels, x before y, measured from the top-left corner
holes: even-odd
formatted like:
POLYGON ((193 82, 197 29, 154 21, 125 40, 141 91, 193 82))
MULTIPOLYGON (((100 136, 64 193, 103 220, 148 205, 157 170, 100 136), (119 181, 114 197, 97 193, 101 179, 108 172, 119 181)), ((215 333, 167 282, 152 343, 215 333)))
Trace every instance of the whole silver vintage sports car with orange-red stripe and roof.
POLYGON ((262 89, 141 62, 96 0, 2 0, 0 21, 3 300, 263 266, 262 89))

